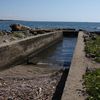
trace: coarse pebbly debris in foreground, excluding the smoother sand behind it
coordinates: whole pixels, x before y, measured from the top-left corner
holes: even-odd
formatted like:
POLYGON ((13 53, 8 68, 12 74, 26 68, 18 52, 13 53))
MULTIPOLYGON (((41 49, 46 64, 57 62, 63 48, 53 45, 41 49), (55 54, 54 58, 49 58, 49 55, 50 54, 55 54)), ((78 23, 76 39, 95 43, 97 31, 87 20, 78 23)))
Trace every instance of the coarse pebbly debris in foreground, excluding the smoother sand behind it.
POLYGON ((0 100, 52 100, 60 75, 0 78, 0 100))

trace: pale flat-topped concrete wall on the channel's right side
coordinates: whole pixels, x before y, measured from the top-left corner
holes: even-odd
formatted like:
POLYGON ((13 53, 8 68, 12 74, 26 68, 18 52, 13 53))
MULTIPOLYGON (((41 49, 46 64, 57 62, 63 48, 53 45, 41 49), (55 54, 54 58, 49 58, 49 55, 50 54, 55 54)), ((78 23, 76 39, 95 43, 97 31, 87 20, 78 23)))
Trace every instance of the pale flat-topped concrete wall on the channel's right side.
POLYGON ((86 71, 83 32, 80 31, 74 51, 68 78, 65 84, 62 100, 85 100, 81 91, 82 76, 86 71))

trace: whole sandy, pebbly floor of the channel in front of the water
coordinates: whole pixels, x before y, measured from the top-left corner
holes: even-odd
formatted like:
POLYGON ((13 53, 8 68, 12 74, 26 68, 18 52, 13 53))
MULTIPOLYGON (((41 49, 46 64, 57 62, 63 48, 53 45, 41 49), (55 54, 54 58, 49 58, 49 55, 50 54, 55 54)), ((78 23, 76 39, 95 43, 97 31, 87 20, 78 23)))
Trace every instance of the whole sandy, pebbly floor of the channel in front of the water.
POLYGON ((52 100, 62 71, 18 65, 0 71, 0 100, 52 100))

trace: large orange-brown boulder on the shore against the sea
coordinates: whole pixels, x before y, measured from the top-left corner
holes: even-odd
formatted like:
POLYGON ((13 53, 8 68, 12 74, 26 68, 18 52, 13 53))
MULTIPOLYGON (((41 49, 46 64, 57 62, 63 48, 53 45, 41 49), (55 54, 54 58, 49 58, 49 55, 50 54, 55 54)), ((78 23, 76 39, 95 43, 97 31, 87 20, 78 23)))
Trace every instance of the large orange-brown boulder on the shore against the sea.
POLYGON ((20 25, 20 24, 12 24, 12 25, 10 25, 10 28, 12 29, 12 31, 31 30, 31 28, 24 26, 24 25, 20 25))

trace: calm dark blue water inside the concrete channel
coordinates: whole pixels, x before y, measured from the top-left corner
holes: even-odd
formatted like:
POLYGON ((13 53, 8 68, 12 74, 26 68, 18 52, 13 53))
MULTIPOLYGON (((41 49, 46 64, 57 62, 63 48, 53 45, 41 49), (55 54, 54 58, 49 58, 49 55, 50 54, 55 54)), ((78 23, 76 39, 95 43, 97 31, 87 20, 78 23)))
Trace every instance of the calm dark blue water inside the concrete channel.
MULTIPOLYGON (((66 38, 56 45, 40 52, 34 57, 37 64, 48 64, 50 66, 69 67, 73 56, 77 38, 66 38)), ((34 60, 33 59, 33 60, 34 60)))

